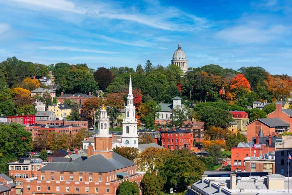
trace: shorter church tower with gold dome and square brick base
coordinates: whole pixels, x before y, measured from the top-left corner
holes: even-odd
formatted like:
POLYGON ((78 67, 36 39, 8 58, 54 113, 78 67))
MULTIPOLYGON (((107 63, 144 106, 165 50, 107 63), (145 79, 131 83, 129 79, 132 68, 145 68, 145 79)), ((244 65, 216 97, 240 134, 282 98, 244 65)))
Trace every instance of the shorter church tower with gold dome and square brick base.
POLYGON ((94 135, 95 151, 93 155, 102 154, 107 158, 112 158, 112 134, 109 134, 109 118, 107 110, 102 105, 98 117, 98 130, 94 135))

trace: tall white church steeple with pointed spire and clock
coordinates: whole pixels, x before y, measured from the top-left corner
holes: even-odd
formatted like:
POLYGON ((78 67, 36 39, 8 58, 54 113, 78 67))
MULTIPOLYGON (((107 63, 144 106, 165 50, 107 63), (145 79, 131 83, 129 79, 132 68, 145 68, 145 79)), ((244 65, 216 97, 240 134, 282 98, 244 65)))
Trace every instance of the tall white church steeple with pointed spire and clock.
POLYGON ((122 146, 138 148, 137 123, 132 93, 132 79, 130 77, 127 106, 125 107, 125 118, 123 120, 122 146))

